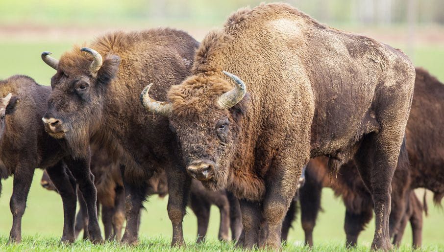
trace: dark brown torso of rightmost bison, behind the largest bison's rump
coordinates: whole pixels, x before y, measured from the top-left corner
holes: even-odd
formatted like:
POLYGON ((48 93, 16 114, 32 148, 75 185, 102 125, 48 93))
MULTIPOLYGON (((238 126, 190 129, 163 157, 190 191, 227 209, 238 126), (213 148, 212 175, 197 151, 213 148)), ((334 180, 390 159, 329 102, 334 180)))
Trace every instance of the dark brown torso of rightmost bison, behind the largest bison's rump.
POLYGON ((416 69, 415 94, 405 130, 410 160, 410 188, 434 193, 435 203, 444 197, 444 83, 426 70, 416 69))

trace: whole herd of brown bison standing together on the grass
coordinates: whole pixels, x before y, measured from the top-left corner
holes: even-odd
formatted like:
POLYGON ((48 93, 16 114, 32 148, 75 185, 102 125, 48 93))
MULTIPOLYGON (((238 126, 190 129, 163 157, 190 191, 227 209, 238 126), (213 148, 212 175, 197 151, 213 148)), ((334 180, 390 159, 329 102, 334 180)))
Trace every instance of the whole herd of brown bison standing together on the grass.
POLYGON ((51 87, 0 81, 10 242, 21 241, 37 167, 62 198, 62 242, 81 229, 102 242, 101 206, 105 239, 137 244, 143 202, 168 194, 172 246, 184 244, 186 206, 201 242, 216 205, 219 239, 278 249, 297 201, 311 246, 321 189, 331 187, 346 206, 347 246, 374 212, 372 249, 398 245, 408 222, 419 247, 426 208, 414 189, 444 196, 443 83, 402 51, 290 5, 240 9, 200 44, 158 28, 50 54, 51 87))

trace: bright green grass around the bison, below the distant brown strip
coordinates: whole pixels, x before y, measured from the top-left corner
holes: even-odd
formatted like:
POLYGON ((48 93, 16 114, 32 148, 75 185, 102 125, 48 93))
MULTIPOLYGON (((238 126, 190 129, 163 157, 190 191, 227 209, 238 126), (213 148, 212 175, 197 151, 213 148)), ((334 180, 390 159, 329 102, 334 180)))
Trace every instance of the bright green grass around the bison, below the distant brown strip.
MULTIPOLYGON (((54 57, 58 58, 61 53, 71 48, 74 42, 54 43, 11 43, 0 40, 0 79, 7 78, 13 74, 26 74, 36 79, 41 84, 49 84, 54 70, 45 65, 40 59, 42 51, 52 51, 54 57)), ((81 43, 77 41, 76 43, 81 43)), ((402 48, 402 46, 400 46, 402 48)), ((444 81, 444 45, 420 46, 416 48, 414 55, 415 65, 422 66, 444 81)), ((88 242, 78 241, 74 245, 60 245, 58 239, 61 235, 63 225, 62 203, 60 197, 43 189, 40 184, 41 170, 36 170, 34 181, 28 197, 26 212, 23 218, 24 241, 20 245, 6 245, 9 229, 12 224, 12 215, 9 211, 9 198, 12 193, 12 178, 3 181, 3 192, 0 198, 0 251, 16 250, 57 250, 57 251, 124 251, 136 250, 167 250, 171 239, 171 223, 166 212, 167 199, 152 197, 145 204, 147 210, 142 214, 142 225, 140 229, 141 243, 137 247, 121 247, 116 243, 107 243, 104 246, 95 246, 88 242)), ((333 197, 330 189, 324 189, 322 206, 324 212, 320 213, 317 227, 314 231, 314 239, 320 251, 344 250, 345 233, 343 230, 345 208, 340 200, 333 197)), ((422 195, 421 195, 422 196, 422 195)), ((444 251, 444 214, 441 208, 431 203, 429 194, 429 216, 424 218, 423 244, 424 250, 444 251)), ((208 241, 199 246, 193 245, 197 232, 197 221, 193 213, 184 220, 185 239, 188 243, 187 249, 191 251, 226 251, 232 250, 231 244, 221 244, 217 241, 217 230, 219 228, 219 213, 216 207, 212 208, 208 241)), ((362 232, 359 237, 357 251, 368 251, 373 237, 374 223, 362 232)), ((404 235, 401 250, 408 251, 411 244, 411 231, 409 226, 404 235)), ((289 244, 284 247, 288 251, 305 250, 302 246, 303 232, 299 220, 294 223, 294 229, 290 231, 289 244)), ((175 251, 173 249, 172 251, 175 251)))

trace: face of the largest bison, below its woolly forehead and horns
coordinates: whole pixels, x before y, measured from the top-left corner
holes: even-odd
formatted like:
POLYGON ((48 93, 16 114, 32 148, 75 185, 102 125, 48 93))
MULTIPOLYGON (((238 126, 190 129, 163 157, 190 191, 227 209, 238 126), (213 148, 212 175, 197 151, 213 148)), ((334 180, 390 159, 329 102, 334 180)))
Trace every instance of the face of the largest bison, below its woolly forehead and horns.
POLYGON ((229 111, 219 108, 208 108, 204 115, 183 117, 173 113, 170 117, 188 174, 211 190, 226 186, 238 137, 235 124, 229 111))

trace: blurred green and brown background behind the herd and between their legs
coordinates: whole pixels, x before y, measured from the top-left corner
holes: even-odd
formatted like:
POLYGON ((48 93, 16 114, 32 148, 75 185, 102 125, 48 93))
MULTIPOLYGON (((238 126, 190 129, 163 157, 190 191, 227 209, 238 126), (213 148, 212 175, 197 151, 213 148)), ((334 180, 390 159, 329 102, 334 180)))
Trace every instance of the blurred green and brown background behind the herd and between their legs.
MULTIPOLYGON (((137 30, 157 26, 183 29, 201 40, 212 28, 222 27, 228 15, 253 0, 1 0, 0 1, 0 79, 26 74, 40 84, 49 84, 54 70, 40 59, 42 51, 59 57, 73 44, 82 44, 108 31, 137 30)), ((361 33, 403 49, 416 66, 428 69, 444 81, 444 0, 292 0, 287 1, 322 23, 361 33)), ((42 171, 36 170, 23 218, 23 234, 59 237, 63 215, 60 197, 40 187, 42 171)), ((0 235, 7 236, 12 215, 9 198, 12 178, 3 181, 0 198, 0 235)), ((315 242, 345 241, 345 208, 324 189, 315 242)), ((422 191, 419 191, 422 196, 422 191)), ((424 218, 423 244, 444 244, 444 214, 432 206, 424 218)), ((171 223, 166 212, 167 199, 152 197, 145 204, 140 234, 144 237, 171 237, 171 223)), ((193 241, 196 218, 185 217, 185 238, 193 241)), ((303 241, 299 216, 290 232, 290 242, 303 241)), ((209 239, 217 238, 219 211, 212 208, 209 239)), ((369 245, 374 223, 362 233, 359 243, 369 245)), ((411 243, 407 227, 403 244, 411 243)))

